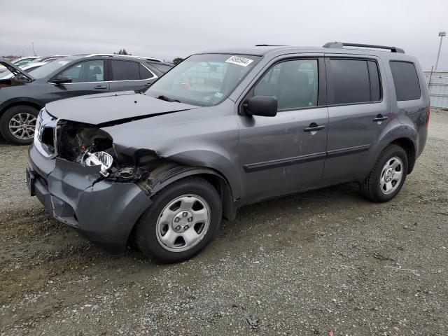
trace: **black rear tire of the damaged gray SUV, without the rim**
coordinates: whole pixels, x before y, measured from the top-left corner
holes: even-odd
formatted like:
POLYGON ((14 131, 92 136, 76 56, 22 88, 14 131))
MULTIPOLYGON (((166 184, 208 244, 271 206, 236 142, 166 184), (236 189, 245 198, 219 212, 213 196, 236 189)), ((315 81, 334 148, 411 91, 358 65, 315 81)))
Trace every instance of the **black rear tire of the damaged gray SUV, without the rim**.
POLYGON ((367 198, 367 200, 371 200, 372 202, 381 203, 392 200, 393 197, 395 197, 400 192, 403 183, 405 183, 407 167, 408 162, 406 151, 402 147, 397 145, 392 144, 387 146, 379 154, 377 162, 375 162, 375 165, 369 176, 367 176, 367 179, 365 179, 365 181, 361 183, 361 192, 367 198), (384 165, 386 165, 386 162, 395 157, 398 157, 402 160, 402 178, 395 190, 392 193, 386 194, 383 192, 383 190, 381 190, 381 173, 383 171, 384 165))

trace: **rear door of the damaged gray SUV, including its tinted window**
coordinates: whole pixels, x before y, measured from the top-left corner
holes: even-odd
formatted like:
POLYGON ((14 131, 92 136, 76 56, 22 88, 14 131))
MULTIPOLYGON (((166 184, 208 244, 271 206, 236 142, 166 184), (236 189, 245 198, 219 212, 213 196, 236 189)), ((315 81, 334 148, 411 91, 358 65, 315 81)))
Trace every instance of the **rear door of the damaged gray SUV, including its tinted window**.
POLYGON ((366 176, 381 134, 390 129, 384 66, 375 57, 327 55, 328 146, 323 184, 366 176))

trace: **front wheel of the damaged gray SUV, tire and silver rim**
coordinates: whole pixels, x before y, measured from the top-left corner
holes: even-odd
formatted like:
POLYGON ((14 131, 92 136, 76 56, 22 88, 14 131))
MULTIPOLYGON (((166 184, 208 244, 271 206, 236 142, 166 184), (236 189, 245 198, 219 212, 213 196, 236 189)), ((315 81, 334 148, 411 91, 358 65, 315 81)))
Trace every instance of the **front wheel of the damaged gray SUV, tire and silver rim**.
POLYGON ((153 197, 153 204, 137 223, 137 245, 159 262, 186 260, 209 244, 221 217, 216 189, 204 179, 188 177, 153 197))

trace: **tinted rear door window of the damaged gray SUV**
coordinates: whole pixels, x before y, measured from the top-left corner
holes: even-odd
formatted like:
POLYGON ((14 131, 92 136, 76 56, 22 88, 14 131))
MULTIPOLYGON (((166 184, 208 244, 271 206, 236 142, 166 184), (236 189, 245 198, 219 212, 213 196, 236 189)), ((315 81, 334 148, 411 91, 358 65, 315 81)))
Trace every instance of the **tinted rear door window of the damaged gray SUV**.
POLYGON ((378 102, 381 83, 377 63, 364 59, 330 59, 333 104, 378 102))

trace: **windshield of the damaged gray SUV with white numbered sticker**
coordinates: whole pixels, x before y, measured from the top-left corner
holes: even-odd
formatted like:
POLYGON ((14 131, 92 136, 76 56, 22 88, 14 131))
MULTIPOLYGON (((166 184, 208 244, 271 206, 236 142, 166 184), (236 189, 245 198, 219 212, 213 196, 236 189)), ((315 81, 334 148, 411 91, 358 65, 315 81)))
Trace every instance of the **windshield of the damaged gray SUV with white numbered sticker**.
POLYGON ((162 95, 180 102, 213 106, 235 90, 259 59, 252 55, 193 55, 167 72, 145 93, 151 97, 162 95))

